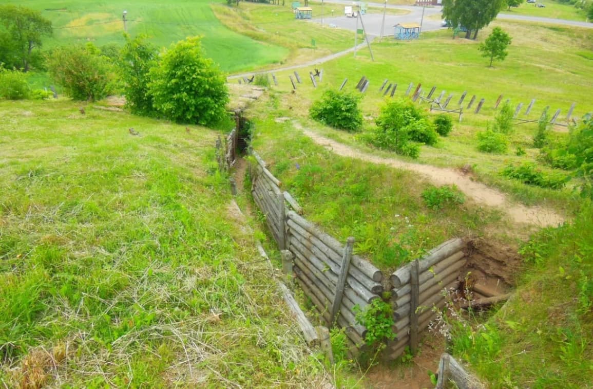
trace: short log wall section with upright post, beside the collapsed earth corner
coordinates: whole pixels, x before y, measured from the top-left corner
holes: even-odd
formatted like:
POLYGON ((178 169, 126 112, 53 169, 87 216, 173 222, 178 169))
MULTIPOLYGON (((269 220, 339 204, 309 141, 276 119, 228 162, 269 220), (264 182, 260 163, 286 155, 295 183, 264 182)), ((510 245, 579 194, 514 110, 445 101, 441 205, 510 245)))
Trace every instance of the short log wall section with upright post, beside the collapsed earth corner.
POLYGON ((415 348, 416 345, 411 344, 415 337, 410 337, 410 334, 425 330, 438 315, 435 308, 439 310, 446 305, 447 291, 459 286, 462 281, 460 272, 466 265, 465 246, 461 239, 451 239, 417 260, 417 286, 412 283, 415 263, 406 264, 391 274, 390 281, 394 286, 391 304, 397 336, 388 344, 390 359, 400 356, 407 346, 415 348), (416 320, 411 320, 414 313, 416 320), (412 328, 413 325, 415 328, 412 328))

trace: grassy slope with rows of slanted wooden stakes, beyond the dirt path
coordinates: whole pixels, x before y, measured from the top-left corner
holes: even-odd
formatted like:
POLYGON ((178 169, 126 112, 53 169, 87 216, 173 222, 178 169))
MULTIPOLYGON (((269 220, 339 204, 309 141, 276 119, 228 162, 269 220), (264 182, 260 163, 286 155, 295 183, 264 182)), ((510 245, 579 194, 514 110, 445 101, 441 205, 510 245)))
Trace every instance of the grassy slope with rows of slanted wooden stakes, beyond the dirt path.
MULTIPOLYGON (((423 146, 419 162, 443 167, 469 164, 478 179, 511 193, 515 200, 529 205, 548 205, 561 213, 570 214, 578 209, 578 200, 573 197, 570 184, 565 191, 552 191, 520 184, 499 174, 506 165, 533 161, 537 157, 538 150, 533 147, 535 124, 516 125, 510 138, 509 151, 503 155, 477 151, 476 132, 492 125, 495 115, 493 107, 500 94, 503 94, 503 103, 506 99, 511 99, 513 109, 519 102, 524 103, 520 118, 537 120, 544 107, 550 106, 550 115, 557 108, 562 109, 559 116, 562 119, 573 102, 577 103, 573 117, 579 118, 590 112, 593 106, 590 105, 588 90, 593 88, 593 75, 589 71, 591 60, 587 58, 593 49, 593 31, 500 21, 494 26, 512 31, 514 42, 509 48, 507 59, 495 63, 493 68, 488 68, 487 60, 479 55, 479 42, 452 40, 451 31, 426 33, 423 39, 416 42, 399 43, 387 39, 372 46, 375 62, 369 58, 368 50, 361 50, 356 59, 345 56, 324 64, 323 83, 316 90, 307 78, 308 69, 299 71, 304 84, 298 87, 295 94, 288 94, 292 88, 288 81, 291 73, 277 72, 280 86, 273 88, 286 95, 278 99, 278 109, 273 110, 272 115, 297 116, 304 124, 321 134, 361 150, 372 151, 359 140, 358 134, 324 128, 308 119, 308 108, 321 96, 323 90, 337 88, 344 78, 348 78, 345 89, 353 91, 359 78, 366 75, 371 80, 371 85, 362 100, 366 118, 364 131, 369 131, 374 126, 374 118, 377 117, 383 101, 378 89, 385 79, 398 84, 396 97, 403 96, 410 82, 414 85, 422 83, 425 91, 430 90, 433 85, 437 86, 437 96, 441 90, 447 91, 445 97, 449 93, 454 94, 449 107, 458 107, 461 94, 467 90, 463 122, 455 123, 452 134, 441 138, 438 146, 423 146), (467 110, 465 107, 473 94, 477 96, 476 102, 473 109, 467 110), (480 114, 476 115, 473 111, 482 97, 486 102, 480 114), (525 116, 525 109, 531 99, 537 101, 530 115, 525 116), (523 148, 527 154, 516 156, 517 147, 523 148)), ((484 39, 488 33, 488 30, 482 31, 480 39, 484 39)), ((429 108, 428 105, 424 107, 427 110, 429 108)), ((562 131, 566 131, 566 128, 559 126, 553 138, 565 138, 566 134, 562 131)), ((374 152, 382 156, 393 156, 390 153, 374 152)))

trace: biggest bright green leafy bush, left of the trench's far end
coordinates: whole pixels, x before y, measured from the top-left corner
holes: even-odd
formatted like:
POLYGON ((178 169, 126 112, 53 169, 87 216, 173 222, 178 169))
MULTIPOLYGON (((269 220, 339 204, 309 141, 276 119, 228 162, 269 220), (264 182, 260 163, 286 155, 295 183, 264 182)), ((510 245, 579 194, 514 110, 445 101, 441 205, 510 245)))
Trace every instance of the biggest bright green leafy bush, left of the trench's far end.
POLYGON ((200 37, 181 40, 150 71, 155 109, 176 122, 212 125, 226 114, 226 78, 202 50, 200 37))

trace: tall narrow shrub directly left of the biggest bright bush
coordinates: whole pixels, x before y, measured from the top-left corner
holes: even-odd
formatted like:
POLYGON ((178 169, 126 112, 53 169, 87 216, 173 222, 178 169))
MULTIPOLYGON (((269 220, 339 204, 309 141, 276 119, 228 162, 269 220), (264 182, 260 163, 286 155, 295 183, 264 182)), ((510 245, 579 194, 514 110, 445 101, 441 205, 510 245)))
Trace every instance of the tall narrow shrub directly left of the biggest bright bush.
POLYGON ((126 106, 141 115, 154 113, 152 95, 148 90, 149 72, 157 66, 158 50, 146 42, 145 36, 130 39, 126 36, 118 60, 119 73, 126 95, 126 106))

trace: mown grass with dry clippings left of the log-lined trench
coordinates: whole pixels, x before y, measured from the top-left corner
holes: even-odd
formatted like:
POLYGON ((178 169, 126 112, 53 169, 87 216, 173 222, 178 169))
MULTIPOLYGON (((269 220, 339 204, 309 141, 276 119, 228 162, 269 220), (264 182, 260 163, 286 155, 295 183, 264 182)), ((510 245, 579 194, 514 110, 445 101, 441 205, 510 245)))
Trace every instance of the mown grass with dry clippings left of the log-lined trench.
POLYGON ((0 102, 0 385, 320 385, 216 132, 78 108, 0 102))

